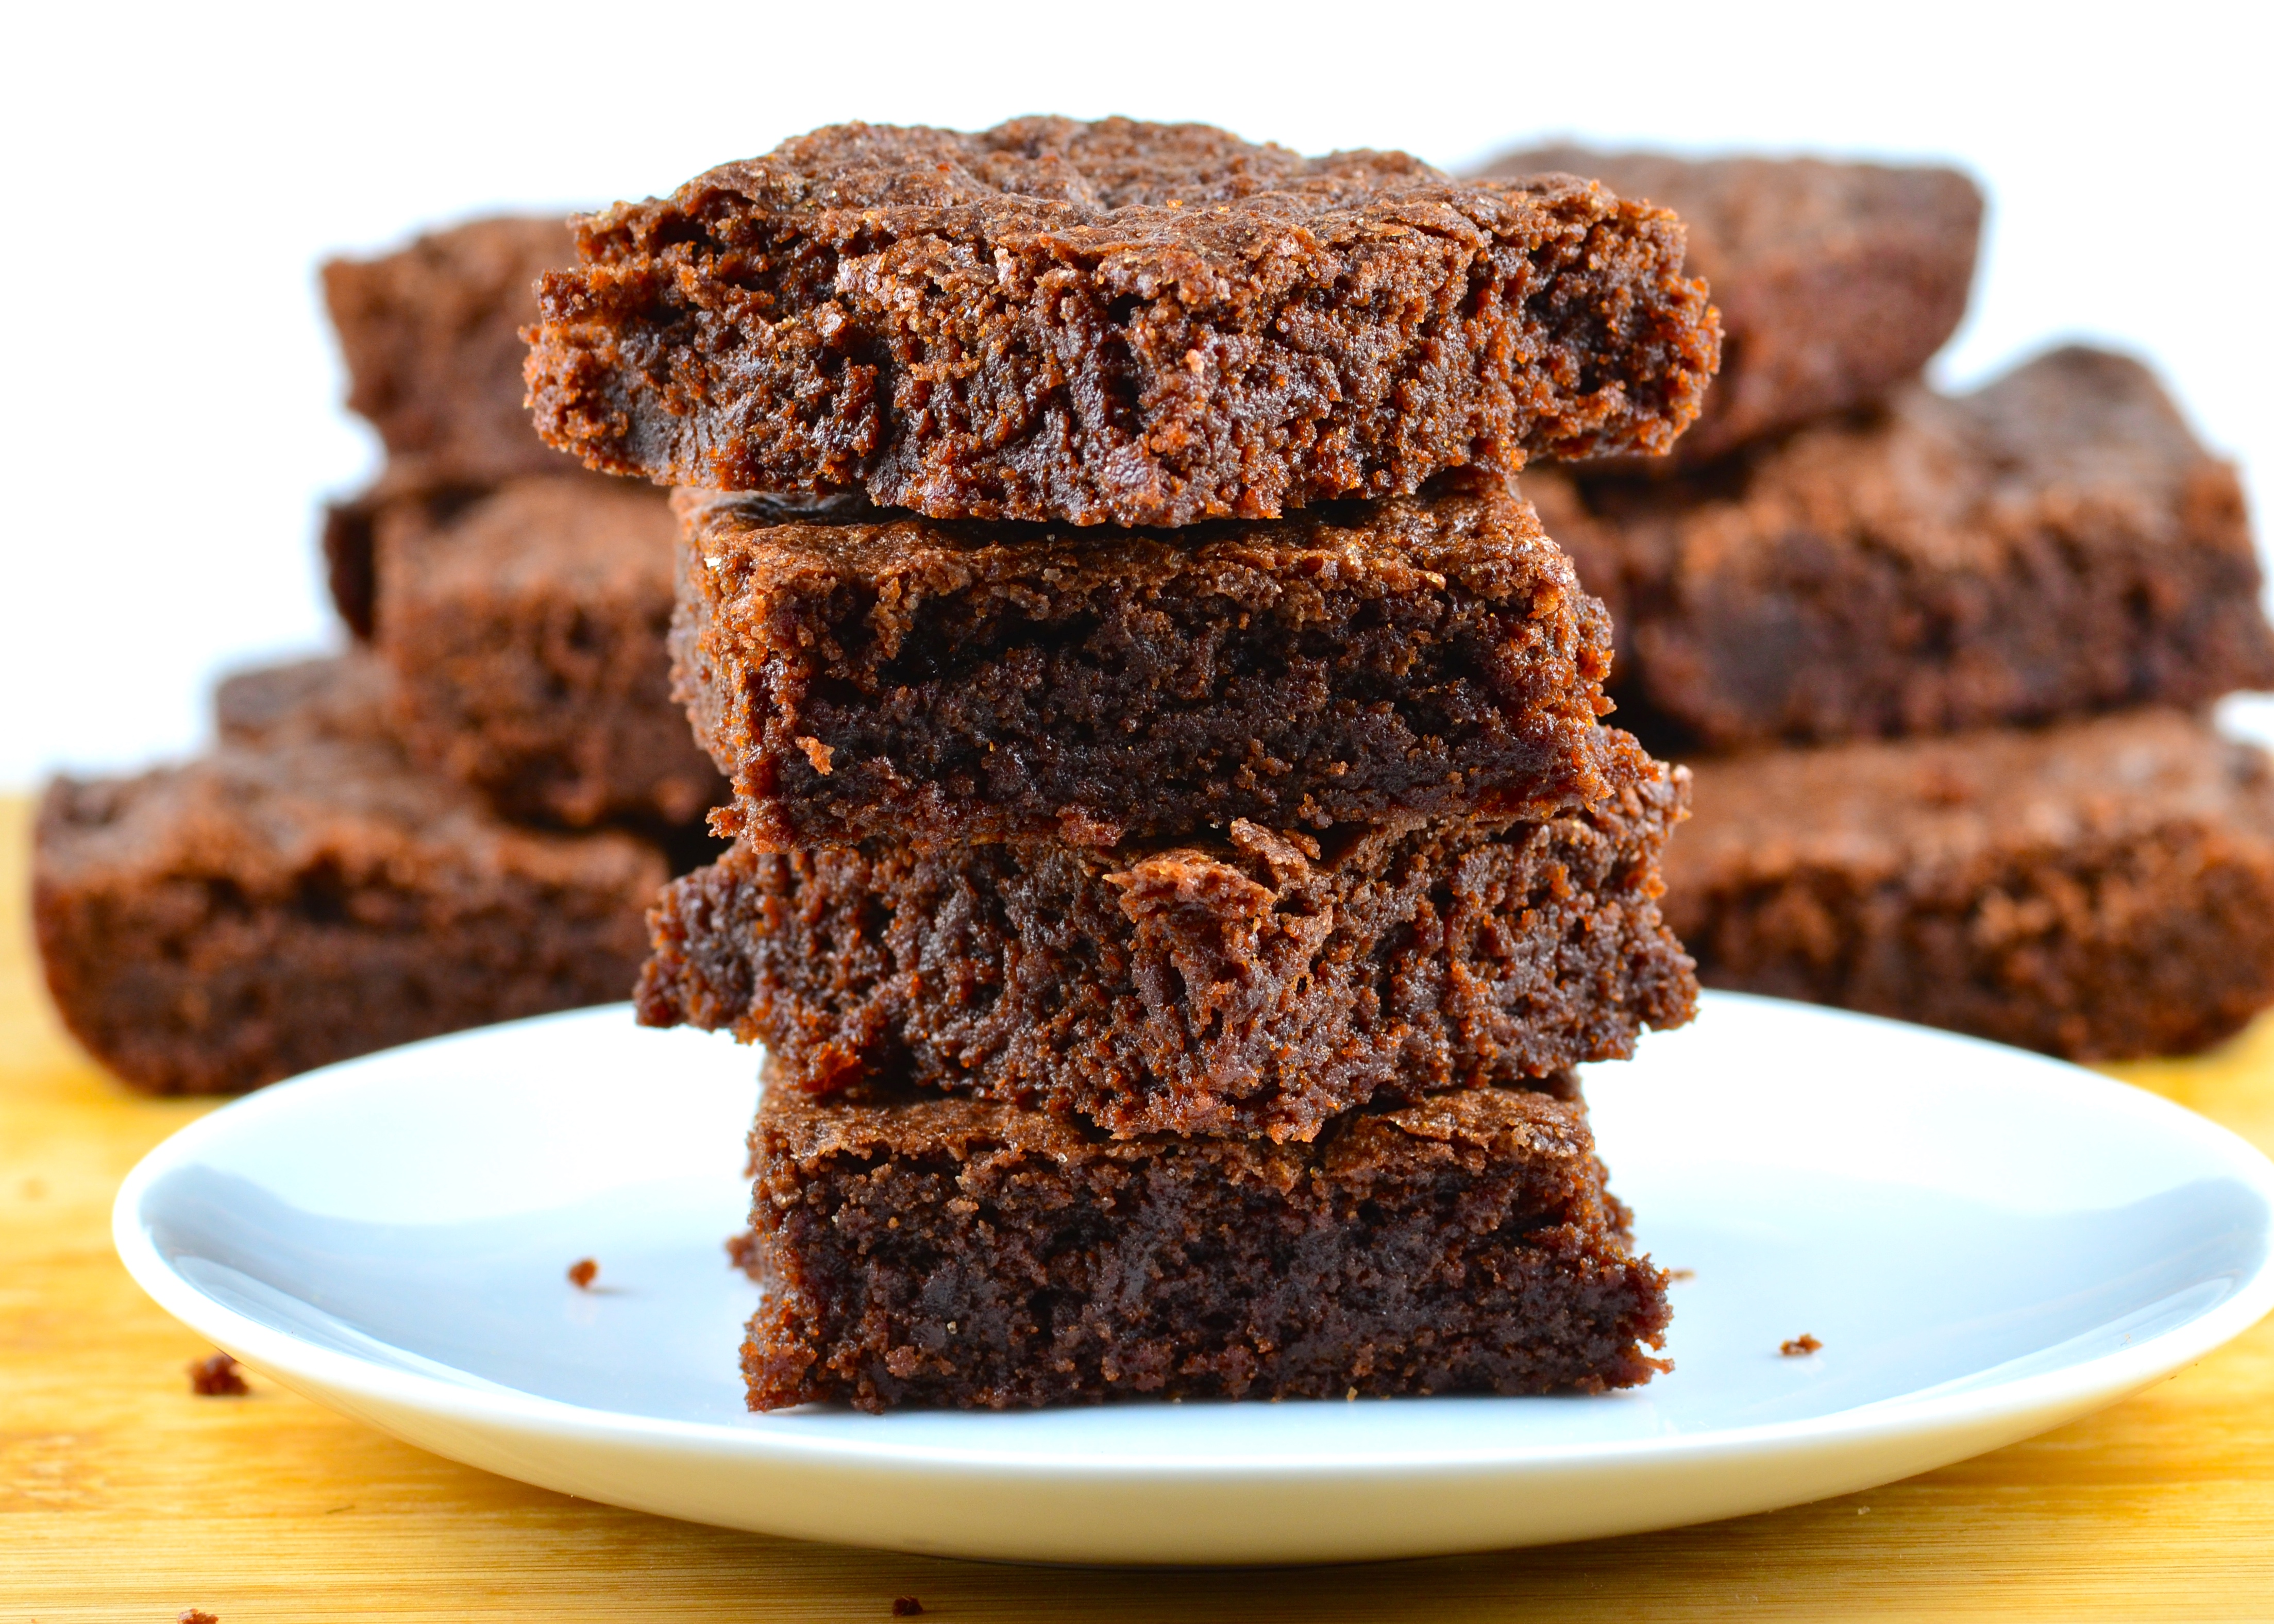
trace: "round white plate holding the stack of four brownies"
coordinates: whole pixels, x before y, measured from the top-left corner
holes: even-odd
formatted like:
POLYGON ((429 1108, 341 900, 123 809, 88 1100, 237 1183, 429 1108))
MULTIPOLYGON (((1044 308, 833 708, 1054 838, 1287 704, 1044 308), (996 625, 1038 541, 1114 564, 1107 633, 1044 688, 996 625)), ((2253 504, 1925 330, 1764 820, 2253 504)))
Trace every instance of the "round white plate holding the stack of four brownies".
POLYGON ((257 1372, 457 1460, 669 1517, 1082 1563, 1421 1556, 1842 1494, 2142 1387, 2274 1301, 2274 1167, 1962 1037, 1708 996, 1587 1089, 1678 1369, 1599 1399, 741 1408, 755 1060, 623 1008, 287 1083, 118 1192, 127 1269, 257 1372), (600 1262, 598 1292, 566 1283, 600 1262), (1824 1351, 1783 1358, 1812 1333, 1824 1351))

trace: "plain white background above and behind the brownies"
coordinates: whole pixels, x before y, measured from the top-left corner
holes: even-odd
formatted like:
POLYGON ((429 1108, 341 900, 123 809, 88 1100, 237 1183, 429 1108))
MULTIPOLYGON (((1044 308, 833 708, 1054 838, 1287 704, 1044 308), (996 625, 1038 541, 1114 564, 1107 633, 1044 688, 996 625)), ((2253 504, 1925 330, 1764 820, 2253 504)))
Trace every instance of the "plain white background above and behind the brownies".
POLYGON ((2147 355, 2265 507, 2265 7, 16 7, 0 23, 0 787, 196 746, 205 685, 332 641, 325 252, 669 191, 841 118, 1205 118, 1460 166, 1537 136, 1933 157, 1990 191, 1978 380, 2147 355))

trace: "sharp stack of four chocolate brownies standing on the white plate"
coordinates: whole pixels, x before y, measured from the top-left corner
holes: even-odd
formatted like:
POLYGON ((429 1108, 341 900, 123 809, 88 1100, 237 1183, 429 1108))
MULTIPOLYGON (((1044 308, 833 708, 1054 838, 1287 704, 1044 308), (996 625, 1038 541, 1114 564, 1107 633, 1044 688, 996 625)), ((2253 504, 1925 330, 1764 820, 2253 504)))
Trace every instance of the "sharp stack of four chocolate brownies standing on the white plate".
POLYGON ((1692 1012, 1685 778, 1501 475, 1694 416, 1676 221, 1032 118, 578 255, 537 423, 682 487, 732 785, 639 1008, 766 1046, 753 1408, 1649 1378, 1574 1067, 1692 1012))

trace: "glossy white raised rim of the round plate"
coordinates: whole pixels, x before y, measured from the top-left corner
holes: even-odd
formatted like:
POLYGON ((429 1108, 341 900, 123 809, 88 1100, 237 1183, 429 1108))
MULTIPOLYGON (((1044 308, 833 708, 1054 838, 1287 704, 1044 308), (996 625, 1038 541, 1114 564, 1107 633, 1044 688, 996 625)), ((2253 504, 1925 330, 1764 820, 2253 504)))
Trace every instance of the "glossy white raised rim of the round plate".
MULTIPOLYGON (((1910 1037, 1926 1035, 1933 1039, 1983 1049, 1994 1053, 1999 1062, 2024 1060, 2031 1062, 2028 1069, 2042 1067, 2047 1071, 2058 1069, 2074 1074, 2063 1078, 2063 1083, 2069 1087, 2083 1085, 2097 1089, 2108 1101, 2124 1101, 2124 1108, 2160 1119, 2163 1126, 2194 1140, 2199 1149, 2215 1153, 2217 1160, 2226 1162, 2235 1176, 2256 1190, 2269 1212, 2269 1224, 2260 1231, 2267 1240, 2260 1262, 2256 1271, 2242 1278, 2222 1301, 2140 1342, 2049 1372, 2003 1381, 1992 1378, 1987 1383, 1969 1385, 1962 1392, 1933 1394, 1928 1390, 1922 1397, 1897 1394, 1849 1406, 1844 1410, 1831 1410, 1826 1415, 1785 1422, 1721 1426, 1694 1433, 1653 1433, 1621 1440, 1494 1442, 1489 1447, 1462 1449, 1455 1453, 1449 1453, 1442 1444, 1426 1449, 1417 1447, 1412 1453, 1399 1449, 1367 1449, 1362 1453, 1353 1451, 1346 1456, 1335 1451, 1280 1456, 1262 1449, 1244 1458, 1178 1460, 1117 1458, 1110 1451, 1103 1456, 1062 1456, 1044 1449, 973 1449, 957 1442, 910 1442, 889 1437, 857 1440, 839 1433, 814 1435, 789 1428, 766 1428, 764 1422, 737 1426, 723 1422, 648 1417, 630 1410, 600 1410, 512 1387, 468 1387, 441 1376, 380 1365, 355 1353, 314 1344, 230 1308, 227 1303, 205 1294, 193 1281, 180 1274, 157 1251, 148 1226, 141 1221, 143 1196, 159 1176, 193 1155, 207 1140, 225 1137, 234 1124, 241 1124, 248 1117, 296 1110, 298 1101, 305 1101, 312 1089, 327 1089, 352 1080, 359 1071, 371 1069, 375 1062, 396 1064, 400 1062, 400 1055, 409 1051, 459 1044, 471 1035, 500 1037, 534 1024, 562 1024, 575 1019, 598 1021, 609 1017, 621 1019, 630 1010, 625 1003, 564 1010, 523 1021, 503 1021, 484 1028, 466 1028, 464 1033, 446 1033, 418 1044, 402 1044, 398 1049, 321 1067, 230 1101, 218 1110, 184 1124, 134 1165, 111 1203, 111 1242, 127 1274, 152 1301, 157 1301, 159 1308, 209 1337, 216 1347, 227 1349, 232 1356, 243 1358, 257 1372, 268 1374, 284 1385, 293 1385, 291 1378, 300 1376, 325 1387, 327 1392, 343 1392, 366 1403, 414 1410, 459 1424, 509 1424, 514 1431, 541 1431, 550 1435, 568 1433, 589 1442, 650 1440, 655 1444, 671 1442, 675 1447, 700 1449, 707 1456, 746 1458, 753 1463, 825 1463, 839 1469, 866 1465, 926 1474, 980 1472, 991 1478, 1035 1481, 1080 1478, 1171 1483, 1205 1476, 1214 1483, 1273 1483, 1296 1474, 1314 1478, 1321 1472, 1380 1478, 1408 1474, 1439 1476, 1449 1472, 1508 1474, 1546 1472, 1576 1465, 1619 1465, 1635 1458, 1667 1458, 1683 1463, 1712 1460, 1715 1456, 1749 1458, 1762 1451, 1776 1453, 1778 1447, 1799 1449, 1842 1442, 1865 1444, 1922 1431, 1965 1431, 1969 1426, 1994 1424, 1999 1417, 2060 1410, 2076 1406, 2078 1401, 2090 1408, 2094 1399, 2113 1401, 2128 1392, 2138 1392, 2140 1387, 2201 1360, 2274 1310, 2274 1160, 2231 1128, 2133 1083, 2051 1060, 2033 1051, 1967 1037, 1962 1033, 1944 1033, 1853 1010, 1833 1010, 1826 1005, 1733 992, 1708 992, 1706 1003, 1701 1003, 1701 1014, 1715 1003, 1767 1005, 1778 1012, 1840 1017, 1842 1021, 1897 1028, 1910 1037)), ((1994 1372, 1997 1367, 1992 1365, 1987 1369, 1994 1372)), ((1985 1372, 1976 1372, 1974 1376, 1978 1378, 1983 1374, 1985 1372)), ((1453 1399, 1455 1394, 1446 1397, 1453 1399)), ((1410 1401, 1428 1403, 1428 1399, 1410 1401)))

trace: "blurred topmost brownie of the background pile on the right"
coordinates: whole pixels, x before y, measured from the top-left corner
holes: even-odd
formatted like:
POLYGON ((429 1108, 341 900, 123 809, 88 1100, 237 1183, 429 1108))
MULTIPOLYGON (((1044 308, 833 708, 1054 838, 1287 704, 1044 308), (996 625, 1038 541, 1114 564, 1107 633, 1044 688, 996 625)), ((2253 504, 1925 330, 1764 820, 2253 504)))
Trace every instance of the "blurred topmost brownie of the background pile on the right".
POLYGON ((1919 375, 1967 309, 1983 198, 1949 168, 1528 148, 1485 175, 1571 173, 1690 227, 1721 312, 1721 375, 1674 455, 1696 464, 1919 375))

